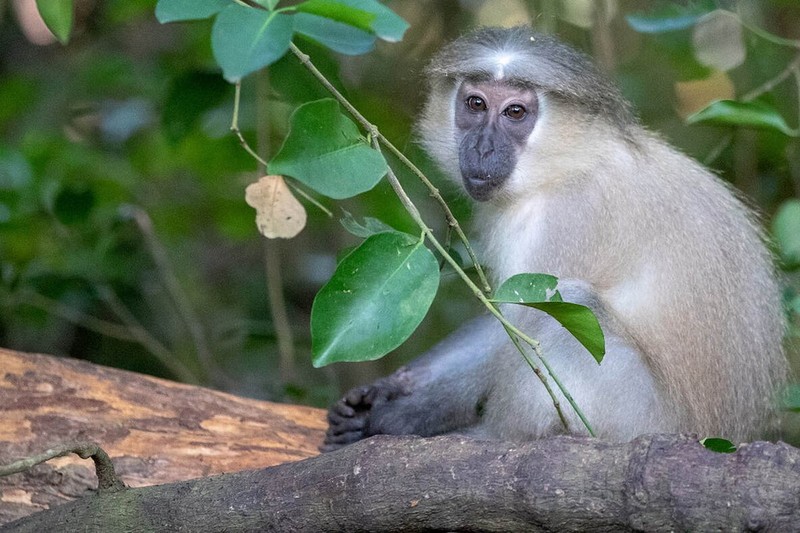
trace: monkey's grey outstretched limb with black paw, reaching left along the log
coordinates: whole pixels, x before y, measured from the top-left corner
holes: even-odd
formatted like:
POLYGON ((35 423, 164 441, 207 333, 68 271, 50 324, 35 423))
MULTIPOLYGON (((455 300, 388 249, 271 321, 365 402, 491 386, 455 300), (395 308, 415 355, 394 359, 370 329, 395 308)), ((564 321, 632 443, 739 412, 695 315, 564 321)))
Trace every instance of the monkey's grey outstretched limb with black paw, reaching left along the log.
POLYGON ((322 451, 372 435, 431 436, 476 425, 492 375, 482 367, 502 342, 498 322, 482 316, 394 374, 350 390, 328 413, 322 451))

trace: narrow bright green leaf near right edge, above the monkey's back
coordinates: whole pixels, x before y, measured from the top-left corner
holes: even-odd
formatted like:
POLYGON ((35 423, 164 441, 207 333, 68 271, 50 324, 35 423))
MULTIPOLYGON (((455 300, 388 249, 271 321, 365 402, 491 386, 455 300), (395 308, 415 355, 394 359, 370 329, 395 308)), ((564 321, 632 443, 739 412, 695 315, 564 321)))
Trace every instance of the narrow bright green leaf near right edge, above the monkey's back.
POLYGON ((790 137, 798 136, 798 132, 789 127, 774 107, 762 101, 716 100, 689 116, 686 122, 764 128, 777 130, 790 137))

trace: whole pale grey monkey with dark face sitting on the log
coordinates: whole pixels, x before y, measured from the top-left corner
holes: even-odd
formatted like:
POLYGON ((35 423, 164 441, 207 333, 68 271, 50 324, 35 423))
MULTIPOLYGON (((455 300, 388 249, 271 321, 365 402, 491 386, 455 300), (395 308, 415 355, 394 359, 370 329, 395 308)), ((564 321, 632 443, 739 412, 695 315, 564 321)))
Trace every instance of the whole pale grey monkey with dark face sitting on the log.
MULTIPOLYGON (((765 235, 732 188, 646 130, 586 56, 529 27, 462 36, 425 75, 420 142, 474 200, 494 285, 553 274, 564 301, 601 324, 598 365, 548 315, 503 308, 594 434, 762 435, 787 378, 785 326, 765 235)), ((481 316, 347 392, 321 449, 377 434, 587 435, 555 394, 566 425, 497 320, 481 316)))

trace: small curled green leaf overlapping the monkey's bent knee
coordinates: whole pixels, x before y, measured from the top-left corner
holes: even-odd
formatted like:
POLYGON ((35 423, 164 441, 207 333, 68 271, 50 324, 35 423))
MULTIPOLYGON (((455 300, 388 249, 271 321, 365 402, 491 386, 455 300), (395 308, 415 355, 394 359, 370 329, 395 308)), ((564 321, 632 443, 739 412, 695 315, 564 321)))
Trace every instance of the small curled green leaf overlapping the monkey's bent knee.
POLYGON ((548 274, 517 274, 497 288, 492 301, 544 311, 564 326, 600 363, 606 353, 606 343, 597 317, 585 305, 562 301, 557 286, 558 278, 548 274))

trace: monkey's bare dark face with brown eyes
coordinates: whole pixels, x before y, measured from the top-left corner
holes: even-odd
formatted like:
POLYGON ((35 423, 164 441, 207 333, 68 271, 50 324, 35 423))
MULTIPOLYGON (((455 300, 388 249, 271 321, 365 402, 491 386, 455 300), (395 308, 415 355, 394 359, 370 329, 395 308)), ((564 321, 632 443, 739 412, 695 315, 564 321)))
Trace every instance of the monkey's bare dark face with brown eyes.
POLYGON ((456 92, 455 126, 464 188, 490 200, 514 168, 536 124, 536 93, 501 81, 465 81, 456 92))

